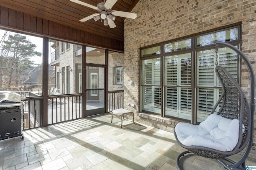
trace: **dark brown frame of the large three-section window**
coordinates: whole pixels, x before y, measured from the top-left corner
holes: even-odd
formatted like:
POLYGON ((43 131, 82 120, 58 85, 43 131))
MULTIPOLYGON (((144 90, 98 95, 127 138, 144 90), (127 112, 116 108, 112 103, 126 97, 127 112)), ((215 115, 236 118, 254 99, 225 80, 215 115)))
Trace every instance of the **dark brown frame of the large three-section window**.
MULTIPOLYGON (((154 44, 154 45, 150 45, 150 46, 146 46, 146 47, 142 47, 140 48, 140 111, 141 112, 144 112, 144 113, 150 113, 150 114, 156 114, 154 112, 150 112, 150 111, 146 111, 143 109, 143 102, 142 102, 142 97, 143 97, 143 89, 145 86, 152 86, 152 85, 145 85, 143 84, 143 81, 142 81, 142 63, 144 60, 146 59, 154 59, 154 58, 157 58, 157 57, 160 57, 161 58, 161 63, 163 63, 163 66, 164 67, 164 57, 166 56, 170 56, 170 55, 178 55, 178 54, 182 54, 182 53, 191 53, 192 56, 191 56, 191 61, 192 61, 192 70, 191 70, 191 88, 192 88, 192 114, 191 114, 191 119, 182 119, 182 118, 179 118, 179 117, 173 117, 173 116, 168 116, 166 115, 166 111, 165 111, 165 101, 166 101, 166 94, 165 94, 165 91, 166 91, 166 88, 169 87, 169 86, 166 86, 164 84, 164 75, 165 75, 165 72, 164 72, 164 68, 162 68, 161 70, 161 85, 160 87, 162 87, 162 111, 161 111, 161 117, 170 117, 170 118, 175 118, 175 119, 180 119, 182 121, 186 121, 186 122, 190 122, 192 124, 196 124, 196 123, 200 123, 197 121, 197 113, 196 113, 196 108, 197 108, 197 90, 198 88, 201 88, 201 87, 198 87, 196 86, 196 75, 195 74, 198 74, 196 72, 196 69, 197 69, 197 63, 196 63, 196 52, 197 51, 202 51, 202 50, 207 50, 207 49, 215 49, 215 45, 214 44, 210 44, 210 45, 204 45, 204 46, 200 46, 200 47, 196 47, 196 40, 197 40, 197 37, 199 36, 202 36, 202 35, 207 35, 207 34, 212 34, 212 33, 216 33, 216 32, 220 32, 220 31, 225 31, 225 30, 229 30, 229 29, 233 29, 233 28, 237 28, 237 39, 236 40, 232 40, 232 41, 225 41, 227 43, 230 43, 232 45, 237 45, 238 48, 240 49, 241 48, 241 23, 235 23, 235 24, 232 24, 232 25, 226 25, 225 27, 219 27, 219 28, 216 28, 216 29, 212 29, 212 30, 209 30, 209 31, 204 31, 204 32, 200 32, 200 33, 196 33, 194 35, 190 35, 190 36, 186 36, 186 37, 180 37, 180 38, 177 38, 177 39, 174 39, 174 40, 171 40, 171 41, 165 41, 165 42, 162 42, 162 43, 158 43, 158 44, 154 44), (182 49, 182 50, 177 50, 177 51, 170 51, 170 52, 166 52, 164 51, 164 45, 166 44, 169 44, 169 43, 173 43, 173 42, 176 42, 176 41, 182 41, 182 40, 186 40, 186 39, 190 39, 191 38, 191 48, 188 48, 188 49, 182 49), (148 56, 142 56, 142 50, 145 50, 145 49, 149 49, 149 48, 152 48, 152 47, 156 47, 156 46, 161 46, 160 49, 161 49, 161 53, 160 54, 154 54, 154 55, 148 55, 148 56), (194 73, 193 73, 194 72, 194 73)), ((227 34, 226 34, 227 35, 227 34)), ((231 36, 231 35, 230 35, 231 36)), ((240 76, 241 76, 241 59, 240 57, 238 57, 238 63, 237 63, 237 78, 238 78, 238 83, 240 83, 240 76)), ((187 87, 187 86, 184 86, 184 87, 187 87)), ((183 88, 183 86, 182 86, 183 88)), ((217 87, 217 88, 220 88, 221 87, 217 87)))

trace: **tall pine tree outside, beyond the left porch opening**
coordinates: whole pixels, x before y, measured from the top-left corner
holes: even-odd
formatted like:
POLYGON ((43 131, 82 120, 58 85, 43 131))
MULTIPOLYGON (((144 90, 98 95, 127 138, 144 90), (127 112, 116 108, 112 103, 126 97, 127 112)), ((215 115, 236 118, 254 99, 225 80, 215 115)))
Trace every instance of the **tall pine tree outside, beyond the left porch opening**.
MULTIPOLYGON (((5 37, 3 36, 2 39, 5 37)), ((0 47, 2 82, 0 85, 7 87, 18 85, 22 72, 33 65, 29 60, 30 57, 42 55, 35 51, 35 48, 36 45, 27 40, 26 36, 17 33, 8 35, 8 40, 2 41, 0 47)))

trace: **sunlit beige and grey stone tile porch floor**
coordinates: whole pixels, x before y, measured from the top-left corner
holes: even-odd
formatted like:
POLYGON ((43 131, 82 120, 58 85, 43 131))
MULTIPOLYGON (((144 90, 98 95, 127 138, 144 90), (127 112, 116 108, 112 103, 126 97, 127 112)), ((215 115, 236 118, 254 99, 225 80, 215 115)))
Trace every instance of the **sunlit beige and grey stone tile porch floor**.
MULTIPOLYGON (((0 141, 0 170, 176 170, 184 151, 174 134, 102 114, 23 131, 0 141)), ((234 159, 240 155, 235 155, 234 159)), ((255 160, 246 165, 256 166, 255 160)), ((188 154, 186 170, 225 170, 216 160, 188 154)))

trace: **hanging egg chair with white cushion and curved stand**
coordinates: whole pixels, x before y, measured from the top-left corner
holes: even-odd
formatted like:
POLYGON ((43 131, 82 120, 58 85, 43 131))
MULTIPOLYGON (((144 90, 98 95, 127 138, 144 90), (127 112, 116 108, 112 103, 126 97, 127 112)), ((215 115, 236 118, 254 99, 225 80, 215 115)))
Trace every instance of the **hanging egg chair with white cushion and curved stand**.
POLYGON ((187 149, 177 157, 179 161, 185 154, 193 152, 198 156, 217 159, 226 169, 245 169, 245 160, 252 147, 255 80, 252 66, 244 54, 236 47, 223 42, 216 42, 216 75, 222 85, 222 94, 207 119, 199 125, 178 123, 174 135, 178 144, 187 149), (251 76, 251 105, 237 81, 222 66, 218 66, 218 44, 236 51, 245 61, 251 76), (219 109, 215 113, 216 109, 219 109), (246 147, 247 146, 247 147, 246 147), (243 156, 237 162, 227 158, 246 147, 243 156), (230 162, 227 165, 221 159, 230 162))

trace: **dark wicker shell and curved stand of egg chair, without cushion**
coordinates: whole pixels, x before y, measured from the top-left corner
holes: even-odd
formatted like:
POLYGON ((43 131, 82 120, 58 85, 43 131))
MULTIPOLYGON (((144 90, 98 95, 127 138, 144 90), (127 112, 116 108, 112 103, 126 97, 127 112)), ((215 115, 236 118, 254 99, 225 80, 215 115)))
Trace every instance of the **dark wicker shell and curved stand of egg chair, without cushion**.
MULTIPOLYGON (((216 42, 216 44, 222 44, 225 46, 228 46, 238 52, 240 56, 244 59, 244 55, 242 52, 238 51, 236 47, 233 47, 231 45, 226 45, 226 43, 222 42, 216 42)), ((217 50, 216 50, 217 51, 217 50)), ((236 82, 236 80, 232 77, 232 75, 223 67, 216 65, 215 72, 220 80, 220 83, 222 84, 222 94, 220 96, 220 99, 212 109, 212 113, 216 110, 219 105, 221 107, 219 108, 218 115, 225 117, 227 119, 238 119, 239 120, 239 137, 237 145, 234 147, 231 151, 220 151, 216 149, 212 149, 209 147, 202 147, 202 146, 186 146, 183 145, 176 134, 176 131, 178 129, 175 129, 174 127, 174 135, 176 138, 176 141, 178 144, 187 149, 187 151, 182 152, 177 157, 177 168, 180 169, 179 161, 182 156, 185 156, 187 153, 194 153, 198 156, 203 156, 206 158, 213 158, 217 159, 218 162, 220 162, 226 169, 245 169, 245 160, 250 152, 251 146, 252 146, 252 140, 253 140, 253 120, 254 120, 254 73, 252 71, 251 65, 248 62, 248 59, 244 59, 245 63, 248 65, 250 75, 253 76, 251 78, 251 107, 249 107, 248 101, 246 99, 246 96, 244 95, 244 92, 240 88, 239 84, 236 82), (252 73, 251 73, 252 72, 252 73), (253 108, 252 108, 253 107, 253 108), (176 130, 176 131, 175 131, 176 130), (236 154, 243 150, 245 147, 246 151, 244 152, 244 155, 238 162, 234 162, 227 158, 228 156, 231 156, 233 154, 236 154), (232 165, 227 165, 222 160, 224 159, 228 162, 231 162, 232 165)), ((181 127, 181 126, 179 126, 181 127)))

